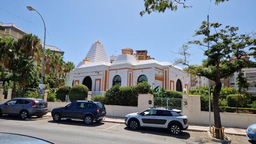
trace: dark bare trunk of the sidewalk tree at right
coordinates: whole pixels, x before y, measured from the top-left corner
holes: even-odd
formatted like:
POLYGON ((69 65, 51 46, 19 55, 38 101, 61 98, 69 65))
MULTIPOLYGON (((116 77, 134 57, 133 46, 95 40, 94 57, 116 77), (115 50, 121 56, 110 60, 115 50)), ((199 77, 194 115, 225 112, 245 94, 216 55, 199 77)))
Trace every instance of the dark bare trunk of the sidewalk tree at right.
MULTIPOLYGON (((213 114, 214 114, 214 126, 221 128, 220 110, 219 110, 219 96, 221 91, 221 82, 216 82, 213 90, 213 114)), ((215 131, 215 137, 220 139, 221 133, 219 130, 215 131)), ((223 139, 223 138, 222 138, 223 139)))

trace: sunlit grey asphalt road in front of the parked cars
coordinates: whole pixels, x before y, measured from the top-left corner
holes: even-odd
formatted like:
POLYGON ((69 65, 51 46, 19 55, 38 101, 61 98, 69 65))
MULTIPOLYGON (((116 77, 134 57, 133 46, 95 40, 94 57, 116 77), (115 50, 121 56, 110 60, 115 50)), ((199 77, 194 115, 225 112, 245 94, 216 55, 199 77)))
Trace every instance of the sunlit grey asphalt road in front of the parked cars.
MULTIPOLYGON (((65 119, 55 123, 51 118, 22 121, 16 117, 4 116, 0 118, 0 132, 25 134, 54 143, 214 143, 207 139, 205 132, 185 131, 175 136, 164 129, 132 131, 124 124, 85 125, 83 121, 65 119)), ((250 143, 246 137, 229 137, 233 140, 232 143, 250 143)))

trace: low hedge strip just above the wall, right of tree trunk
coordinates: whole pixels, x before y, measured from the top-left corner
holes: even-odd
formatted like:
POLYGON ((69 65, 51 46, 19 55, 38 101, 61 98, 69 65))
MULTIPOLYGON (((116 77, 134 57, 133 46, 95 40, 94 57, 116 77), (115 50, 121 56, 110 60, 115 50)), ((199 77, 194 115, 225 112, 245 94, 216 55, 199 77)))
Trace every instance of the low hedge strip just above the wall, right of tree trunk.
MULTIPOLYGON (((219 107, 221 112, 236 113, 237 108, 235 107, 219 107)), ((256 114, 255 108, 238 108, 238 113, 244 114, 256 114)))

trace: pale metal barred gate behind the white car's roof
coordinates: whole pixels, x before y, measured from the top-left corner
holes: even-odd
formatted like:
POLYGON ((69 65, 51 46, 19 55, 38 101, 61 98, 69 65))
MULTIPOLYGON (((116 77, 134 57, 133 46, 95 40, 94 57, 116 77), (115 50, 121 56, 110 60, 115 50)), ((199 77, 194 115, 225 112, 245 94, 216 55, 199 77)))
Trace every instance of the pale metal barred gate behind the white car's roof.
POLYGON ((170 107, 182 110, 182 99, 177 98, 154 98, 155 107, 170 107))

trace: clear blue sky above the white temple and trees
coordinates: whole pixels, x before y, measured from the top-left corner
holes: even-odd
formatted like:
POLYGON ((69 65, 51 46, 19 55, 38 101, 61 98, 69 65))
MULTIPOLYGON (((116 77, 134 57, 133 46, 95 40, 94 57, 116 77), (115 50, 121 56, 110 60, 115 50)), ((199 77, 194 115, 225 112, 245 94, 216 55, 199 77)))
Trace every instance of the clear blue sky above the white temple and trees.
MULTIPOLYGON (((23 30, 38 35, 43 41, 43 23, 49 32, 46 44, 55 45, 65 51, 66 61, 77 65, 99 38, 108 57, 121 53, 124 47, 133 50, 148 50, 148 54, 159 61, 173 62, 180 55, 182 44, 193 39, 194 31, 206 19, 210 0, 189 0, 191 9, 165 13, 151 13, 140 17, 144 9, 143 0, 1 0, 0 21, 14 23, 23 30), (7 12, 6 12, 7 11, 7 12), (12 14, 11 14, 12 13, 12 14), (117 51, 117 52, 115 52, 117 51)), ((239 27, 239 33, 256 30, 256 1, 230 0, 218 6, 211 3, 210 22, 239 27)), ((201 63, 204 58, 199 47, 191 47, 190 63, 201 63)))

